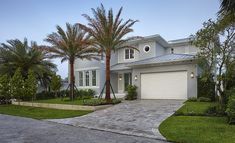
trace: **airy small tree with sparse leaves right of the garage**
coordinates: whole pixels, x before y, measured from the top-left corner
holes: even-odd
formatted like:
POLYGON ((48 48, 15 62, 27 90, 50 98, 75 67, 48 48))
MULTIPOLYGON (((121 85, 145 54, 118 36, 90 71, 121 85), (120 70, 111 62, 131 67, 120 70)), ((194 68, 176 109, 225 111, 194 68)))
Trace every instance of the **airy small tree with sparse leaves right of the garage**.
POLYGON ((228 81, 230 81, 228 78, 231 75, 228 73, 231 73, 231 67, 235 62, 233 54, 235 52, 235 24, 228 24, 231 18, 227 16, 223 19, 217 19, 217 21, 208 20, 193 37, 193 44, 200 48, 200 59, 207 61, 206 74, 204 75, 207 79, 215 78, 222 108, 227 102, 224 89, 227 89, 228 81))

